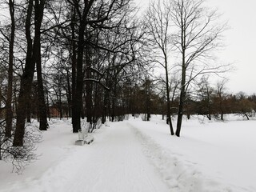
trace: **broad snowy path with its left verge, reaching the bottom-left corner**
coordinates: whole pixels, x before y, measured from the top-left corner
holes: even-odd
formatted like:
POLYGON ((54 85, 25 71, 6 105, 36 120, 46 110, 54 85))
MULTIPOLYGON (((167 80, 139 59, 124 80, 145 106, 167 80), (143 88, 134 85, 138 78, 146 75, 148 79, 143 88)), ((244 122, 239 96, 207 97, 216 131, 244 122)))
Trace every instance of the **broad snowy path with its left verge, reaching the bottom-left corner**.
POLYGON ((4 191, 169 191, 130 126, 115 122, 102 129, 90 146, 72 146, 74 152, 39 178, 12 183, 4 191))

